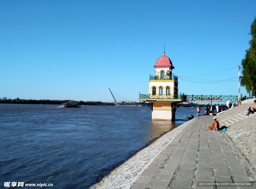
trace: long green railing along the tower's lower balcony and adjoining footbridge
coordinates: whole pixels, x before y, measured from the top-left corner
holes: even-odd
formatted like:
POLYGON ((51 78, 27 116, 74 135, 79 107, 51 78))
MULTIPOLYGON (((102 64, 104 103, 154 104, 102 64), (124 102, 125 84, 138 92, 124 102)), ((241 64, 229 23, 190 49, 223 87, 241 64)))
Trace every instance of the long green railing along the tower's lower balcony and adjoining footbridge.
POLYGON ((152 94, 140 94, 141 99, 183 99, 190 101, 238 101, 238 96, 213 96, 213 95, 184 95, 184 94, 170 94, 170 95, 152 95, 152 94))

